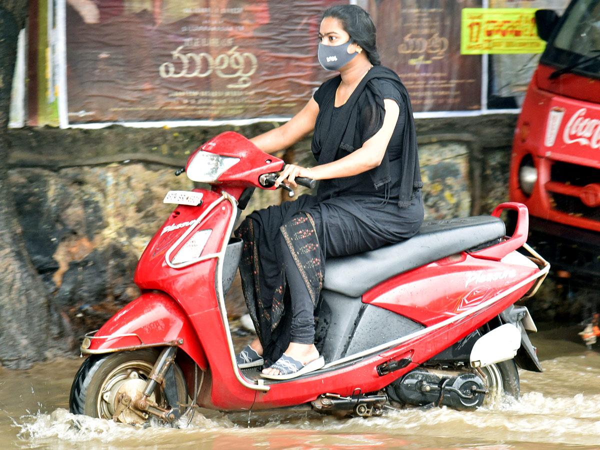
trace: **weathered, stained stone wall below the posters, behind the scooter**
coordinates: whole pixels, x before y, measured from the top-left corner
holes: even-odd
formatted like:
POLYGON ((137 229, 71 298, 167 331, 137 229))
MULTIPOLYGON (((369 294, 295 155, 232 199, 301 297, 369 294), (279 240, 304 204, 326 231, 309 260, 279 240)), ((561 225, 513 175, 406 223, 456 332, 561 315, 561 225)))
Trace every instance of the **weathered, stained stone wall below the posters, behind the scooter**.
MULTIPOLYGON (((506 200, 515 120, 497 115, 417 121, 427 218, 489 214, 506 200)), ((10 131, 10 181, 28 251, 77 337, 138 295, 137 259, 172 210, 162 203, 164 194, 193 188, 174 169, 222 131, 254 136, 275 126, 10 131)), ((314 165, 310 139, 279 156, 314 165)), ((259 191, 247 212, 286 197, 283 191, 259 191)), ((232 318, 245 312, 239 281, 227 305, 232 318)))

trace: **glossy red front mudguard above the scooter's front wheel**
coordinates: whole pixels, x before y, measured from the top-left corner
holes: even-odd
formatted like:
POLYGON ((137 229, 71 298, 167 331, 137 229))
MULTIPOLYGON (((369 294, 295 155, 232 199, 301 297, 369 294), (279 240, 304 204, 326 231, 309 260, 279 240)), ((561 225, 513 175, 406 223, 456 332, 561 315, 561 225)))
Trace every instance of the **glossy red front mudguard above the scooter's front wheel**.
POLYGON ((112 316, 102 328, 86 335, 81 352, 123 352, 148 347, 178 346, 202 370, 206 355, 184 310, 163 292, 147 292, 112 316))

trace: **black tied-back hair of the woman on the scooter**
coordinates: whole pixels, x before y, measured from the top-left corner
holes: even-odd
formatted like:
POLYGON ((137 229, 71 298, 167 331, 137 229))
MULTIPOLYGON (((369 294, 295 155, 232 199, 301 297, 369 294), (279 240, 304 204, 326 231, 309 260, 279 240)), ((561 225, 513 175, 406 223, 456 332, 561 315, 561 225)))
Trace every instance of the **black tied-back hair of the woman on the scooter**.
POLYGON ((381 65, 375 42, 375 24, 367 11, 358 5, 335 5, 325 10, 321 20, 325 17, 339 20, 344 31, 367 53, 371 64, 381 65))

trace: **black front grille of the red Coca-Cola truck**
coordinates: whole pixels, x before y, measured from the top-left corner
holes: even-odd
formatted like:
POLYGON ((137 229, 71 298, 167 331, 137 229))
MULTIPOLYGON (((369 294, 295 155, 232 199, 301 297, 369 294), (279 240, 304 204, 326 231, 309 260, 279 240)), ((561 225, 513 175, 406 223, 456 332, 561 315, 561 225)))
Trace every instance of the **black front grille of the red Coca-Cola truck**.
POLYGON ((598 184, 600 182, 599 169, 555 161, 550 172, 550 179, 555 186, 562 185, 564 191, 573 191, 566 193, 548 190, 554 211, 600 221, 600 207, 585 205, 578 196, 577 189, 574 189, 583 188, 589 184, 598 184))

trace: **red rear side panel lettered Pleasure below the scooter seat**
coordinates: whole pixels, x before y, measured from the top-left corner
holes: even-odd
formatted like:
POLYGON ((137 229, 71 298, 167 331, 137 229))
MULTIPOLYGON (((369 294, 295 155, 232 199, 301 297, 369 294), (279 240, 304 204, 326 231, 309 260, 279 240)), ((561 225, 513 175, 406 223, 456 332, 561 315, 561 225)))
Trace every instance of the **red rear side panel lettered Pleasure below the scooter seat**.
MULTIPOLYGON (((392 277, 366 292, 363 301, 431 326, 493 298, 535 272, 538 269, 462 253, 392 277)), ((523 291, 532 285, 533 281, 523 291)))

